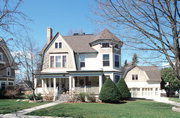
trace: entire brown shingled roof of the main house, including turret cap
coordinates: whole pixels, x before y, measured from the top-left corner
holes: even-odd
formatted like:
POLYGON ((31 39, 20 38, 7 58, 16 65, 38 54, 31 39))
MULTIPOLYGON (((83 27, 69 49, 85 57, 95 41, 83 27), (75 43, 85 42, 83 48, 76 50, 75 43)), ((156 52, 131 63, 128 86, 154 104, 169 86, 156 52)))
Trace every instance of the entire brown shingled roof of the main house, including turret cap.
MULTIPOLYGON (((55 40, 55 37, 58 36, 59 33, 57 33, 53 39, 51 39, 49 44, 46 44, 41 51, 43 53, 47 47, 55 40)), ((102 32, 100 32, 98 35, 93 34, 82 34, 82 35, 73 35, 73 36, 62 36, 64 40, 68 43, 68 45, 73 49, 76 53, 90 53, 90 52, 97 52, 95 49, 93 49, 90 46, 90 43, 96 40, 114 40, 121 42, 116 36, 114 36, 108 29, 104 29, 102 32)))

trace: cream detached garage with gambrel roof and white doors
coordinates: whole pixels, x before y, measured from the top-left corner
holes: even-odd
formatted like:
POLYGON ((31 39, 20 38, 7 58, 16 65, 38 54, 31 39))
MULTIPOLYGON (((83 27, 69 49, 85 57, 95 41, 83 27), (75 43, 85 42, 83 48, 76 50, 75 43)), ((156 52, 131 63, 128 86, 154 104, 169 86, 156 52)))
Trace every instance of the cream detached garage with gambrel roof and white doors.
POLYGON ((160 96, 160 70, 155 66, 133 66, 125 69, 125 81, 135 98, 160 96))

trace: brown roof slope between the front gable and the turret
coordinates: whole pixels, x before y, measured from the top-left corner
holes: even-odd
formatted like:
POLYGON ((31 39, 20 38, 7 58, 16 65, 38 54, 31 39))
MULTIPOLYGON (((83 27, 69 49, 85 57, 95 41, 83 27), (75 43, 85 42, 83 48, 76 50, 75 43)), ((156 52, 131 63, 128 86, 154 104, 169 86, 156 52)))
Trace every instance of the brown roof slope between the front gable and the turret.
POLYGON ((89 44, 94 40, 95 35, 63 36, 63 38, 76 53, 97 52, 89 44))

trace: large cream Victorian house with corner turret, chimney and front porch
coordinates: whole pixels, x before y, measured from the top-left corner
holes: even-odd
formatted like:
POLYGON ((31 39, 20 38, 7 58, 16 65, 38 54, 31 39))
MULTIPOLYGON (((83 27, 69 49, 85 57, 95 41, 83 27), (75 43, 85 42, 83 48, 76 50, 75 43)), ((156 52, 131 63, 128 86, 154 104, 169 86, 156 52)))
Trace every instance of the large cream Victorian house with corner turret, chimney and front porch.
POLYGON ((123 43, 109 30, 99 34, 52 36, 42 50, 42 70, 36 74, 36 93, 66 91, 99 94, 105 77, 117 82, 121 77, 123 43))

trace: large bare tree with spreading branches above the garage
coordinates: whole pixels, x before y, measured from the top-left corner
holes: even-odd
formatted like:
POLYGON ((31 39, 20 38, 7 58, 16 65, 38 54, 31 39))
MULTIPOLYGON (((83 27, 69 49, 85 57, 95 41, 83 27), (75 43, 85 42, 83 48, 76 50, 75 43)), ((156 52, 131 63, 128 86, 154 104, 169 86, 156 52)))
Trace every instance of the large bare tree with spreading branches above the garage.
POLYGON ((96 14, 101 21, 126 31, 126 45, 158 52, 180 79, 179 0, 97 0, 97 3, 96 14))

